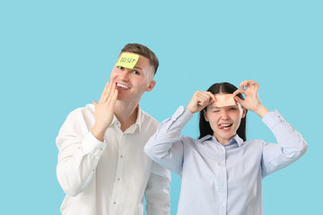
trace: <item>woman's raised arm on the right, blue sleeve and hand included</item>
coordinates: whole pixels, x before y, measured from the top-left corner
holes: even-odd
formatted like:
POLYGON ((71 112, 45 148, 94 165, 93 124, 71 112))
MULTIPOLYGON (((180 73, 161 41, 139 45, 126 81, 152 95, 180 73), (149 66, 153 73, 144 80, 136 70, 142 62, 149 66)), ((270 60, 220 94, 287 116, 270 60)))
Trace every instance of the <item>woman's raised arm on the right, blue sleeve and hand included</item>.
POLYGON ((278 144, 264 143, 263 154, 261 159, 261 167, 263 176, 284 168, 294 162, 296 159, 306 152, 308 148, 307 142, 302 138, 292 125, 289 125, 280 114, 269 112, 263 106, 258 97, 258 82, 244 81, 240 83, 240 90, 236 90, 233 94, 245 94, 244 100, 235 97, 235 99, 245 107, 260 116, 263 122, 274 133, 278 144), (246 88, 246 89, 244 89, 246 88))

